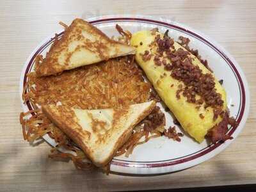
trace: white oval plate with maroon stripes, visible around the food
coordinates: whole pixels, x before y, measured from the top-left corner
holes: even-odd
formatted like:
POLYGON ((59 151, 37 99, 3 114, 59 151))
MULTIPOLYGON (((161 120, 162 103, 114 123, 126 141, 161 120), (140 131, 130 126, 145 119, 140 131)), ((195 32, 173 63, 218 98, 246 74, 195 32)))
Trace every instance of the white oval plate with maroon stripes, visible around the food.
MULTIPOLYGON (((187 26, 159 18, 111 15, 93 18, 90 19, 90 22, 108 36, 118 35, 115 25, 119 24, 122 28, 132 33, 139 30, 159 28, 161 32, 169 29, 169 35, 175 40, 180 35, 188 37, 191 40, 189 46, 193 49, 198 49, 202 58, 208 61, 215 76, 218 79, 224 80, 223 86, 227 92, 230 115, 234 116, 239 123, 239 126, 236 128, 230 127, 228 134, 235 139, 239 132, 241 132, 246 122, 250 106, 248 84, 234 58, 223 47, 214 42, 214 40, 187 26)), ((63 35, 63 32, 58 33, 58 36, 61 35, 63 35)), ((24 89, 24 84, 27 81, 25 75, 33 70, 35 56, 37 54, 45 55, 45 52, 53 42, 52 38, 54 36, 55 33, 38 45, 26 61, 20 77, 20 97, 24 89)), ((31 109, 31 104, 23 104, 23 108, 24 111, 28 111, 28 109, 31 109)), ((173 118, 170 113, 165 112, 165 115, 167 121, 166 127, 173 125, 173 118)), ((177 131, 182 131, 179 127, 177 129, 177 131)), ((56 145, 54 140, 49 138, 49 136, 44 136, 44 139, 52 146, 56 145)), ((155 138, 136 147, 128 158, 124 156, 115 157, 111 161, 111 171, 149 175, 183 170, 216 156, 216 154, 230 145, 234 139, 225 141, 225 143, 216 144, 209 144, 205 140, 203 143, 198 144, 188 135, 182 137, 181 142, 168 140, 166 137, 155 138)))

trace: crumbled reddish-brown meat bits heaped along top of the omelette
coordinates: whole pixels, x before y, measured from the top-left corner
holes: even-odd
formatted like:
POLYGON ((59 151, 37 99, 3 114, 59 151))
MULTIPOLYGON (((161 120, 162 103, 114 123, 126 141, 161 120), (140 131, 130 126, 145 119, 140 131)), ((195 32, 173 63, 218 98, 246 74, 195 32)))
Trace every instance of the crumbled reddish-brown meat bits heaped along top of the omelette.
MULTIPOLYGON (((168 32, 166 31, 166 33, 168 32)), ((205 109, 209 106, 214 108, 213 119, 216 120, 218 115, 223 116, 223 111, 221 110, 223 106, 221 94, 216 92, 215 81, 212 74, 203 74, 202 70, 197 65, 193 65, 189 52, 195 54, 205 67, 207 67, 207 61, 201 59, 197 50, 189 49, 189 38, 180 36, 179 40, 181 41, 180 45, 187 50, 183 48, 175 50, 173 47, 174 41, 168 34, 164 35, 163 38, 161 38, 160 35, 156 35, 154 42, 151 43, 152 45, 157 44, 157 56, 155 56, 154 62, 156 65, 163 64, 163 61, 161 62, 159 57, 163 56, 165 52, 166 58, 171 60, 172 64, 166 63, 164 69, 171 71, 171 76, 174 79, 182 81, 185 85, 184 88, 177 90, 177 99, 180 99, 180 92, 182 92, 182 95, 186 97, 188 102, 198 105, 202 105, 205 102, 205 109), (196 95, 200 96, 200 98, 196 99, 196 95)), ((171 85, 171 87, 172 86, 173 85, 171 85)))

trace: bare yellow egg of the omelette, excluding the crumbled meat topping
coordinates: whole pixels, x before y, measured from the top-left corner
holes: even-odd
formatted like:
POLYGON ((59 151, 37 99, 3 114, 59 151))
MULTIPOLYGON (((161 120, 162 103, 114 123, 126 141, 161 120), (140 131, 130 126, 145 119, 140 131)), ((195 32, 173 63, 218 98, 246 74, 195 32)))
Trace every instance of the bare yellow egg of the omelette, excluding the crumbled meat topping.
MULTIPOLYGON (((221 122, 223 118, 218 116, 216 120, 213 120, 213 109, 211 107, 204 108, 204 104, 198 107, 198 104, 188 102, 186 97, 180 94, 180 99, 177 99, 176 92, 179 90, 178 86, 184 83, 182 81, 178 81, 170 76, 171 72, 164 70, 164 66, 157 66, 154 63, 154 55, 156 55, 157 45, 155 47, 149 47, 156 35, 163 34, 156 32, 152 34, 152 31, 138 31, 134 33, 131 38, 131 45, 137 47, 136 50, 136 61, 143 68, 145 74, 147 75, 149 81, 153 84, 156 92, 159 94, 159 97, 163 100, 163 102, 168 106, 168 108, 175 115, 177 120, 179 120, 180 125, 182 125, 183 129, 188 132, 188 134, 195 138, 196 141, 201 143, 207 132, 221 122), (152 48, 150 50, 150 48, 152 48), (149 51, 153 56, 150 60, 143 60, 143 54, 145 51, 149 51), (173 84, 172 88, 170 85, 173 84), (204 116, 204 118, 200 118, 200 114, 204 116)), ((177 42, 173 44, 175 50, 182 48, 184 51, 187 51, 184 47, 182 47, 177 42)), ((211 73, 201 62, 194 56, 193 54, 188 55, 192 59, 193 65, 198 65, 198 67, 202 70, 203 74, 211 73)), ((168 60, 168 58, 166 58, 168 60)), ((171 61, 168 60, 170 63, 171 61)), ((212 74, 212 73, 211 73, 212 74)), ((213 74, 212 74, 213 76, 213 74)), ((227 100, 226 93, 218 80, 214 77, 216 92, 221 94, 221 99, 223 100, 222 110, 225 111, 227 109, 227 100)), ((196 95, 199 97, 199 95, 196 95)))

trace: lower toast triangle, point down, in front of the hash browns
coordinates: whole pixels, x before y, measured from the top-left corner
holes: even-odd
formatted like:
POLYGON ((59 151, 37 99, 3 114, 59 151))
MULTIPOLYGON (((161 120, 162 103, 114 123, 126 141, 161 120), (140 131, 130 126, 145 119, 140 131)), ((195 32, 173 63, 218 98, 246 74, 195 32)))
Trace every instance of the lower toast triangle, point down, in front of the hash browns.
POLYGON ((45 115, 67 134, 96 166, 105 166, 131 136, 136 124, 151 113, 156 102, 125 108, 76 109, 42 106, 45 115))

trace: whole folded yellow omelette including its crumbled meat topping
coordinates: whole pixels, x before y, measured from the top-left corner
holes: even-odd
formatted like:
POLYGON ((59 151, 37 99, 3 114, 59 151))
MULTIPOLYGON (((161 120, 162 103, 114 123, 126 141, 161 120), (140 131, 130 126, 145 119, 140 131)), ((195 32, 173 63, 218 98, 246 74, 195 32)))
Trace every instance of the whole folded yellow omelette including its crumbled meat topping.
POLYGON ((131 44, 136 61, 190 136, 199 143, 207 134, 213 142, 228 139, 226 93, 207 66, 156 29, 134 33, 131 44))

